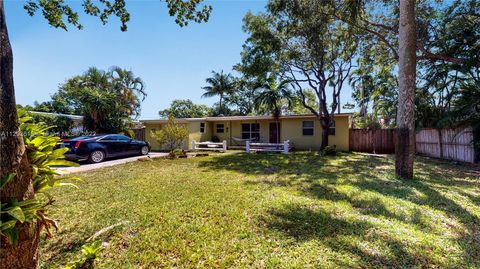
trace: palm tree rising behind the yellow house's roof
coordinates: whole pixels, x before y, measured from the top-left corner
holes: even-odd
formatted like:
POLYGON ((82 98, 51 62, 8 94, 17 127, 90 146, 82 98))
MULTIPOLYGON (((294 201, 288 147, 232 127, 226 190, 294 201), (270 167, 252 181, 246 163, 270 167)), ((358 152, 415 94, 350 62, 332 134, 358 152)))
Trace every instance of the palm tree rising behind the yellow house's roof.
POLYGON ((207 82, 209 85, 202 87, 202 89, 205 90, 205 93, 202 95, 202 97, 213 97, 219 95, 219 107, 220 113, 222 113, 223 96, 226 93, 232 92, 235 87, 233 76, 231 74, 224 74, 223 70, 220 73, 212 71, 212 77, 205 79, 205 82, 207 82))

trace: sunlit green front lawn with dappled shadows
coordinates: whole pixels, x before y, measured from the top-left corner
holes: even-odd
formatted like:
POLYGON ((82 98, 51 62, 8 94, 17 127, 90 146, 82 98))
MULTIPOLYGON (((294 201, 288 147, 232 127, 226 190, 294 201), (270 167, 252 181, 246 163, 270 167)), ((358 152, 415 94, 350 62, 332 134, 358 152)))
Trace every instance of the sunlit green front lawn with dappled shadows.
POLYGON ((129 163, 54 191, 44 268, 79 255, 96 231, 99 268, 478 268, 480 176, 418 158, 227 154, 129 163))

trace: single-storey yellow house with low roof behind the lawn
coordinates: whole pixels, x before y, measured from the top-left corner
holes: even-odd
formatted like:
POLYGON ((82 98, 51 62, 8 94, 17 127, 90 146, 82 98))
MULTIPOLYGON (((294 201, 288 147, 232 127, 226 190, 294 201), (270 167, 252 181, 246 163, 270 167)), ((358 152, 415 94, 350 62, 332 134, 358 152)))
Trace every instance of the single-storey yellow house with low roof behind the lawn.
MULTIPOLYGON (((349 150, 349 118, 350 113, 335 114, 335 124, 330 128, 329 145, 338 150, 349 150)), ((272 116, 230 116, 177 119, 177 123, 188 127, 188 141, 185 149, 190 149, 192 141, 212 141, 217 137, 226 140, 229 148, 245 145, 242 139, 256 139, 263 143, 279 143, 277 128, 272 116)), ((145 125, 146 140, 153 150, 160 150, 160 145, 150 135, 167 123, 166 119, 141 120, 145 125)), ((280 116, 280 142, 289 140, 299 150, 318 150, 322 141, 322 127, 314 115, 280 116)))

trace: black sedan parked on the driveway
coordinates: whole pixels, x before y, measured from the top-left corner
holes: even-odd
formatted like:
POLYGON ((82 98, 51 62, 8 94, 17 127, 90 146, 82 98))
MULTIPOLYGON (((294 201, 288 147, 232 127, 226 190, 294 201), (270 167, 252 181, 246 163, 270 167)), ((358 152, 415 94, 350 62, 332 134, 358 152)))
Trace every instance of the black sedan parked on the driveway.
POLYGON ((125 135, 107 134, 96 136, 81 136, 63 140, 62 147, 68 147, 65 159, 74 161, 88 160, 99 163, 106 158, 128 155, 147 155, 150 145, 125 135))

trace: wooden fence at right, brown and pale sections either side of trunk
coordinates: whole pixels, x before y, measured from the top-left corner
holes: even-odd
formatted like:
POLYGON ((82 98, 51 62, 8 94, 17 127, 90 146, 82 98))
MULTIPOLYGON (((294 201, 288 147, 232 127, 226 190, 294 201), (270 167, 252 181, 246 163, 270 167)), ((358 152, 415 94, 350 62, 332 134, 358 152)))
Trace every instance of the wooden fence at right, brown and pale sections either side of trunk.
MULTIPOLYGON (((388 154, 395 153, 394 129, 350 129, 350 150, 388 154)), ((420 155, 475 162, 472 128, 422 129, 416 134, 416 152, 420 155)))

